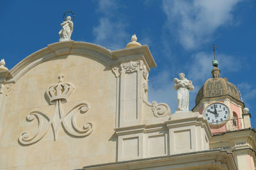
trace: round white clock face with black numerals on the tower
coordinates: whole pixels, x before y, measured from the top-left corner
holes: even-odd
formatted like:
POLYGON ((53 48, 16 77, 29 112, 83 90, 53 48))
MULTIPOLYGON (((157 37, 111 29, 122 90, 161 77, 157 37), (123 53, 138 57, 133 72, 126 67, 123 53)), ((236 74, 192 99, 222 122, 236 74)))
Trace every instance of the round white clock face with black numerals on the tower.
POLYGON ((212 103, 204 110, 204 118, 212 125, 220 125, 229 118, 229 110, 225 104, 212 103))

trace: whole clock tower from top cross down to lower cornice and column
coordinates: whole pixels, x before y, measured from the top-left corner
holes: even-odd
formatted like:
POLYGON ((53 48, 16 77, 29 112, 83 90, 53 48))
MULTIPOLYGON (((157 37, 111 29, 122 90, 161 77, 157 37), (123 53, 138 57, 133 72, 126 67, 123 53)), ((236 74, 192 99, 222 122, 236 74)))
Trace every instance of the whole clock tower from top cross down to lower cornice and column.
POLYGON ((198 91, 192 111, 198 111, 211 127, 211 150, 232 153, 239 170, 255 169, 256 132, 251 128, 251 115, 244 108, 239 89, 227 78, 221 78, 214 43, 213 51, 212 78, 198 91))

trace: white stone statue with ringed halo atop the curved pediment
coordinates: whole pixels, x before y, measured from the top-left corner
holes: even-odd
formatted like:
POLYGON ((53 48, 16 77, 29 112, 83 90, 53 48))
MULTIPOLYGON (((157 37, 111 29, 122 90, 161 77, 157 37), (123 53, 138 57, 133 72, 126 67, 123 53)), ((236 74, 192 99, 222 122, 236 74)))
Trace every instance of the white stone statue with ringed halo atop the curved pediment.
POLYGON ((60 25, 62 26, 62 29, 59 32, 60 41, 70 41, 70 37, 73 32, 73 22, 71 21, 71 17, 68 16, 67 19, 60 25))

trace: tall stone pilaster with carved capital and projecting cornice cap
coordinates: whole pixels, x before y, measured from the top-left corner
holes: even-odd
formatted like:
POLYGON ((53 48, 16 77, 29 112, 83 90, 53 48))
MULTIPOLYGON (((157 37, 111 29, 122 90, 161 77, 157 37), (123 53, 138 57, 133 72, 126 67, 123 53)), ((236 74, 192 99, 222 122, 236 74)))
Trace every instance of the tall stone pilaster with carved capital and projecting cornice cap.
POLYGON ((112 54, 119 63, 112 69, 117 78, 116 127, 140 125, 145 80, 156 63, 147 45, 116 50, 112 54))

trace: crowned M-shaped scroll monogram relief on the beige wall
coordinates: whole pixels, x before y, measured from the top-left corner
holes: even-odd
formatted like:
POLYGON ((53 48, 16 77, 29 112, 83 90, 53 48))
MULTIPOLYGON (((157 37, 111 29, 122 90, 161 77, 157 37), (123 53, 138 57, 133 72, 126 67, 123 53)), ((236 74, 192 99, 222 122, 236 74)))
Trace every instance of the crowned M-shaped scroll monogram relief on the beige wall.
POLYGON ((59 82, 56 85, 52 85, 46 90, 46 94, 49 97, 50 103, 55 105, 52 116, 41 111, 32 111, 28 114, 27 120, 29 122, 35 120, 38 121, 38 129, 33 136, 29 132, 23 132, 19 137, 19 142, 22 145, 31 145, 42 139, 47 131, 52 127, 54 133, 54 141, 56 141, 58 131, 62 126, 64 131, 74 137, 85 137, 88 136, 92 131, 93 127, 91 123, 86 123, 83 129, 77 127, 76 124, 76 113, 86 113, 89 110, 88 103, 80 103, 74 106, 72 110, 67 113, 63 112, 62 104, 67 103, 67 99, 75 89, 72 83, 63 83, 63 75, 61 74, 58 79, 59 82))

